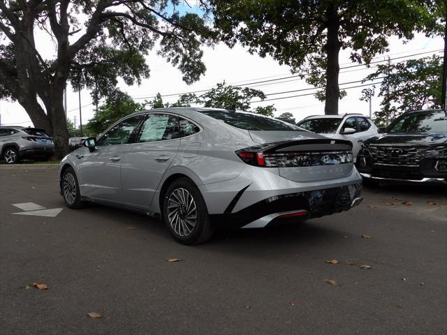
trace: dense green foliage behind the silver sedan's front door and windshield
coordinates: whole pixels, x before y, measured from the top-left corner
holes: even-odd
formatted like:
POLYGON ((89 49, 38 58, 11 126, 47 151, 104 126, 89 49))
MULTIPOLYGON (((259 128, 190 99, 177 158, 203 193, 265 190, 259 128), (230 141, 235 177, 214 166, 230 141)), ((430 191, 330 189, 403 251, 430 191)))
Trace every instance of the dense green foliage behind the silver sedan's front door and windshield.
POLYGON ((135 103, 122 91, 114 91, 105 103, 98 107, 98 112, 90 119, 86 131, 98 135, 112 126, 115 121, 140 110, 144 110, 143 104, 135 103))

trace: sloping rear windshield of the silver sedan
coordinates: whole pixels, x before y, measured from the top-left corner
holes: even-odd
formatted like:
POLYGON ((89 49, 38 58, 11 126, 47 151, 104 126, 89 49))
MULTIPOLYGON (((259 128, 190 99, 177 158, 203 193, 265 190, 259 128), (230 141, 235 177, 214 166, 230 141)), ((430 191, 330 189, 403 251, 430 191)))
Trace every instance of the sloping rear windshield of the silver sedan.
POLYGON ((302 131, 302 129, 286 122, 249 112, 231 112, 223 110, 198 110, 214 119, 222 120, 230 126, 247 131, 302 131))

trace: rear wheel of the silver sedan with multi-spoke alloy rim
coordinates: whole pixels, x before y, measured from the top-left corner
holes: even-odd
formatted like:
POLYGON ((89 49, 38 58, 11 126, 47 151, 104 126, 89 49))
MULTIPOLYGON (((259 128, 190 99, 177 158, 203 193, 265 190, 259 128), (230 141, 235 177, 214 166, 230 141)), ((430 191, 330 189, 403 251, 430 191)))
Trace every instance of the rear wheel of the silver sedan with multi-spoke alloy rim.
POLYGON ((188 178, 173 181, 163 199, 163 219, 182 244, 200 244, 212 237, 207 206, 196 184, 188 178))

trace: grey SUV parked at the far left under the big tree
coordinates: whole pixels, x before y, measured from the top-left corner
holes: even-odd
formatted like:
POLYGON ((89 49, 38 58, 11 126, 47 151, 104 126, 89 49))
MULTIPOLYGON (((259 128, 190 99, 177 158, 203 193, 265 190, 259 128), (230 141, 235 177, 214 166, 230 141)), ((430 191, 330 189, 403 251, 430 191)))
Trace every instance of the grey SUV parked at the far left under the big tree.
POLYGON ((48 160, 54 155, 52 138, 43 129, 0 126, 0 156, 6 164, 21 158, 48 160))

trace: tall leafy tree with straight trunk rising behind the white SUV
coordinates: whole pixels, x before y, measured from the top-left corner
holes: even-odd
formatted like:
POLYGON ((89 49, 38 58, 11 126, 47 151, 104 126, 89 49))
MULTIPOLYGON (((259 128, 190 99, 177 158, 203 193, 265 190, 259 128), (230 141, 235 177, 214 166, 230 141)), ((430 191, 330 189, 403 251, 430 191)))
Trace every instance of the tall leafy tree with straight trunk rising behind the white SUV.
POLYGON ((270 55, 309 84, 325 87, 316 94, 325 114, 338 114, 339 52, 369 64, 388 50, 388 36, 411 39, 416 31, 441 34, 444 0, 210 0, 220 38, 233 47, 270 55))

